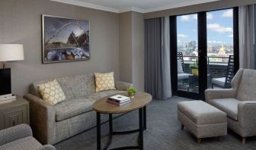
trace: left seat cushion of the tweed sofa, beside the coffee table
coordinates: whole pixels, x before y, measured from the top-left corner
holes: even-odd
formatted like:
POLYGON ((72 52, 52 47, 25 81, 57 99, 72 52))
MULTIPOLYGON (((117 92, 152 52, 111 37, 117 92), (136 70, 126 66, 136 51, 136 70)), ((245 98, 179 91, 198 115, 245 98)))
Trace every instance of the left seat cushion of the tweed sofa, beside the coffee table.
POLYGON ((96 100, 89 98, 78 98, 66 100, 55 105, 56 121, 66 120, 79 114, 92 111, 92 105, 96 100))

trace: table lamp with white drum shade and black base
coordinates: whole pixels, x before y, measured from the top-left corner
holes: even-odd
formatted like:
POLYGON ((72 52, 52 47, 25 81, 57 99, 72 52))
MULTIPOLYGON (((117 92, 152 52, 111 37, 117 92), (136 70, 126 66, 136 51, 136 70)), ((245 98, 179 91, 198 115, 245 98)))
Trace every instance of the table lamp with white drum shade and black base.
POLYGON ((24 60, 24 48, 20 44, 0 44, 0 98, 11 96, 11 68, 5 68, 7 61, 24 60))

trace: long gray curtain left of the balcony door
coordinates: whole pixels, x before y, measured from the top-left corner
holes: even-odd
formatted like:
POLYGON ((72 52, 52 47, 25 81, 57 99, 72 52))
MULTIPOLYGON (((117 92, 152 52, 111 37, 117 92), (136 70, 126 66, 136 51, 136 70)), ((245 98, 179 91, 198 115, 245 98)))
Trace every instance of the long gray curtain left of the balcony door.
POLYGON ((169 17, 145 20, 145 91, 153 98, 171 97, 169 17))

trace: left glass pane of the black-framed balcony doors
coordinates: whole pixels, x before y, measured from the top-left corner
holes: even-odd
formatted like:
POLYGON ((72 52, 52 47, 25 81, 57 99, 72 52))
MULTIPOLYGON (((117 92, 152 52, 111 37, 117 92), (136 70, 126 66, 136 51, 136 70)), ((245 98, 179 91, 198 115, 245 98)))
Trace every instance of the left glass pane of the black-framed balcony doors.
POLYGON ((197 14, 177 17, 178 90, 198 93, 198 70, 190 67, 197 67, 197 33, 197 14))

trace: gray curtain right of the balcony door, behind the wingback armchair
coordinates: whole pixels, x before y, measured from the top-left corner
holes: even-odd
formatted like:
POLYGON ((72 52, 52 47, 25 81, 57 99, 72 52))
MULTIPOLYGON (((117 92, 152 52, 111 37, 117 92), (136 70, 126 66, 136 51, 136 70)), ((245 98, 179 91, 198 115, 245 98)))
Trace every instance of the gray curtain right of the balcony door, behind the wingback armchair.
POLYGON ((239 7, 240 67, 256 69, 256 5, 239 7))

